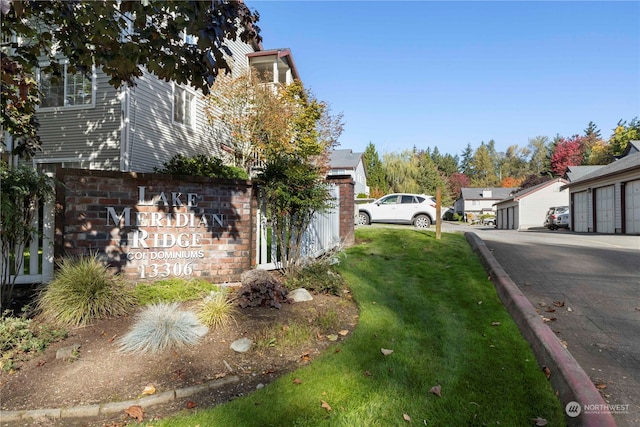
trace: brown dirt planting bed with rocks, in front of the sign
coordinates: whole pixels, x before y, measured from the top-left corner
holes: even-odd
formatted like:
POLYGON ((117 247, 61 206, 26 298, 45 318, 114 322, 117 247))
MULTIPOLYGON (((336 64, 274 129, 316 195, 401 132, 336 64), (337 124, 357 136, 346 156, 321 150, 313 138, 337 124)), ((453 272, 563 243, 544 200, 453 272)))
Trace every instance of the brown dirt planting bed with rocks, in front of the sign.
MULTIPOLYGON (((240 380, 217 390, 145 408, 145 419, 202 409, 246 395, 260 384, 266 385, 309 363, 328 346, 336 344, 328 335, 337 335, 339 343, 348 337, 348 334, 344 337, 338 334, 339 331, 349 331, 349 334, 353 331, 358 312, 348 294, 313 297, 313 301, 284 304, 281 309, 239 310, 236 323, 221 330, 209 330, 197 345, 157 355, 118 352, 118 338, 126 334, 134 322, 131 316, 101 320, 72 330, 67 339, 22 363, 15 372, 0 374, 2 410, 124 401, 141 397, 149 385, 160 393, 230 376, 240 380), (313 337, 306 342, 283 347, 271 336, 278 328, 301 324, 312 327, 313 337), (230 345, 243 337, 253 340, 254 344, 248 352, 236 353, 230 345), (76 357, 56 359, 58 349, 76 344, 80 345, 74 353, 76 357)), ((189 304, 183 308, 189 308, 189 304)), ((40 419, 2 425, 115 427, 134 421, 122 413, 100 419, 40 419)))

